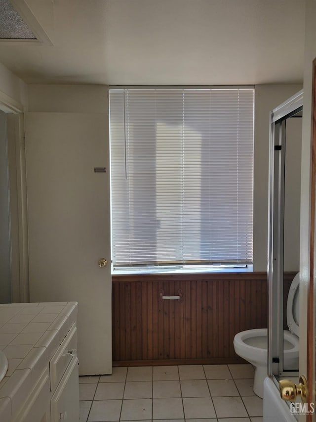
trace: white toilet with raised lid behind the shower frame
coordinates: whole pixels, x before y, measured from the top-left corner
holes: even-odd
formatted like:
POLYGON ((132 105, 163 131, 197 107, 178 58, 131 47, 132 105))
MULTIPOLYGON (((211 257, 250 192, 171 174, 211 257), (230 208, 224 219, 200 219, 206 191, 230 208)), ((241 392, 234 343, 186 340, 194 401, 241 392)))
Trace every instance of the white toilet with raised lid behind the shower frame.
MULTIPOLYGON (((290 286, 287 297, 286 319, 289 331, 283 330, 283 367, 298 369, 299 359, 299 281, 297 274, 290 286)), ((238 356, 255 367, 253 391, 263 398, 263 381, 268 366, 267 328, 248 329, 238 332, 234 338, 234 348, 238 356)))

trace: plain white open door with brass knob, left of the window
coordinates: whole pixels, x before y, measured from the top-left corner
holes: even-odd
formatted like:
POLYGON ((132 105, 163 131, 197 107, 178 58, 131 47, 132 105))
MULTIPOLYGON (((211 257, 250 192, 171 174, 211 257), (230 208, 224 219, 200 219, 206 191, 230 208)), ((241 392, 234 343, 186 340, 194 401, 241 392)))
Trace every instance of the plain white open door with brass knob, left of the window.
POLYGON ((108 115, 26 113, 25 138, 30 301, 78 301, 79 373, 110 374, 108 115))

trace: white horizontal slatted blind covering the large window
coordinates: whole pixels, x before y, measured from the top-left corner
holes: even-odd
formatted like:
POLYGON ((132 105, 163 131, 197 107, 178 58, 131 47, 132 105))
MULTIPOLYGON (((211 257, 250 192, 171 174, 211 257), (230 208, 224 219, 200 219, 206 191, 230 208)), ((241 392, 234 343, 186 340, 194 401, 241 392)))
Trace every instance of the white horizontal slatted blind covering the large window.
POLYGON ((253 89, 110 90, 114 267, 252 262, 253 89))

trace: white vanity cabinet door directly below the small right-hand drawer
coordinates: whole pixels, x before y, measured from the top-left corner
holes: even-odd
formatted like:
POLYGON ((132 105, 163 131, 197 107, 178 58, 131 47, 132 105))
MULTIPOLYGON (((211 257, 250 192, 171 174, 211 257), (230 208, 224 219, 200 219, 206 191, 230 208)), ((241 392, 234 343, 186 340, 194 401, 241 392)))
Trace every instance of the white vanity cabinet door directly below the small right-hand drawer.
POLYGON ((51 422, 79 421, 79 371, 75 357, 62 377, 51 401, 51 422))

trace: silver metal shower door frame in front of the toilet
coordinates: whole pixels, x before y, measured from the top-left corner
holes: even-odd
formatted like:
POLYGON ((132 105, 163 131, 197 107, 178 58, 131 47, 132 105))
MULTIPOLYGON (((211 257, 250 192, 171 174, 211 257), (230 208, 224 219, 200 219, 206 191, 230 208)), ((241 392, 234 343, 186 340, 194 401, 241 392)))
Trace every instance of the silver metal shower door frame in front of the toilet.
POLYGON ((268 376, 297 376, 283 370, 283 258, 285 121, 303 110, 303 90, 270 113, 268 215, 268 376))

